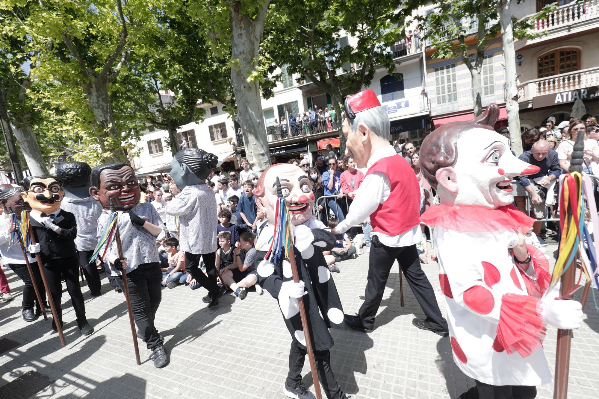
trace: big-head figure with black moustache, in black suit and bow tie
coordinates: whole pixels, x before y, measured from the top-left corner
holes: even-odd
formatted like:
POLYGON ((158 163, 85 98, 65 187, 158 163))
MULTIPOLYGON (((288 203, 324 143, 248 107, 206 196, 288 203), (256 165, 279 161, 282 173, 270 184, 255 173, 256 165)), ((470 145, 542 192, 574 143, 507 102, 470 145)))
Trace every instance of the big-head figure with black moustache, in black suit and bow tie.
MULTIPOLYGON (((75 249, 77 221, 74 214, 60 209, 64 195, 61 182, 56 177, 28 176, 21 181, 21 186, 25 189, 21 197, 31 207, 29 221, 37 241, 29 247, 29 252, 40 253, 60 327, 63 324, 60 307, 62 275, 75 309, 77 326, 82 334, 92 334, 93 328, 85 317, 85 302, 79 286, 79 259, 75 249)), ((56 320, 52 321, 52 327, 57 330, 56 320)))

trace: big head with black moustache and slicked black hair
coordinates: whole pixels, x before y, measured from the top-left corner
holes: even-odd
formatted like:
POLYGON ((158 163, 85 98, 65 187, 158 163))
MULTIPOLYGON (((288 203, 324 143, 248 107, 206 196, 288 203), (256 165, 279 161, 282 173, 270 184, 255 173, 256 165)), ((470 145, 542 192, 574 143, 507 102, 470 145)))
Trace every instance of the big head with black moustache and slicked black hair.
POLYGON ((64 193, 56 177, 28 176, 21 180, 21 185, 25 189, 21 197, 32 210, 50 214, 60 209, 64 193))

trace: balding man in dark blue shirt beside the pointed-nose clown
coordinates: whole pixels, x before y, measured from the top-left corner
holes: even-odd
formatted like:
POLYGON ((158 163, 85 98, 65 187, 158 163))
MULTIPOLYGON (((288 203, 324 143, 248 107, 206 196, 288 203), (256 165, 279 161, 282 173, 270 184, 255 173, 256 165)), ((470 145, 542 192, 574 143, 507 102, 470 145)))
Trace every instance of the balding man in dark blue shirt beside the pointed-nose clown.
MULTIPOLYGON (((562 173, 561 168, 559 167, 558 153, 551 149, 548 141, 539 140, 533 144, 531 150, 523 152, 518 158, 541 169, 539 173, 528 176, 518 176, 517 179, 530 196, 533 207, 531 209, 531 216, 535 219, 544 219, 547 214, 545 206, 547 187, 549 187, 551 182, 557 179, 562 173)), ((551 192, 549 195, 553 195, 553 193, 551 192)), ((514 198, 518 209, 528 214, 526 206, 527 198, 525 196, 514 198)), ((541 246, 546 246, 547 243, 540 237, 541 222, 534 222, 533 232, 539 237, 541 246)))

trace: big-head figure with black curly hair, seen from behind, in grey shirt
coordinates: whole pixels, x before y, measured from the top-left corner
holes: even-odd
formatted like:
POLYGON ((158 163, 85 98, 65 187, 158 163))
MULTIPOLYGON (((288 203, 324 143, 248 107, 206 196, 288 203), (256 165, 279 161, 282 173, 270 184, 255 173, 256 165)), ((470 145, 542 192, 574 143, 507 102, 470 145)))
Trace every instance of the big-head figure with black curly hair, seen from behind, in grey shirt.
POLYGON ((62 182, 65 196, 60 209, 71 212, 77 220, 77 238, 75 247, 79 263, 92 297, 100 295, 100 276, 94 261, 90 262, 93 250, 98 244, 98 217, 102 213, 102 205, 89 195, 90 174, 92 168, 85 162, 65 162, 56 168, 56 177, 62 182))

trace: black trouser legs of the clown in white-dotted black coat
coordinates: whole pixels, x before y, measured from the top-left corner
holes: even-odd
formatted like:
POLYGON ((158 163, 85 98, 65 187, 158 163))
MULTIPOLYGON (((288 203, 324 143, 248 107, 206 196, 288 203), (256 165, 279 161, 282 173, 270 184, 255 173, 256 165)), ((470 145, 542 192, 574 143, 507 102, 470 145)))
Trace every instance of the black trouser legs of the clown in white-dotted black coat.
MULTIPOLYGON (((289 350, 289 373, 287 374, 287 383, 296 388, 301 382, 301 370, 304 367, 306 350, 299 346, 295 341, 291 342, 289 350)), ((331 370, 331 352, 328 350, 314 350, 314 360, 316 361, 316 370, 318 370, 320 384, 325 395, 329 399, 343 399, 345 394, 335 380, 331 370)))

